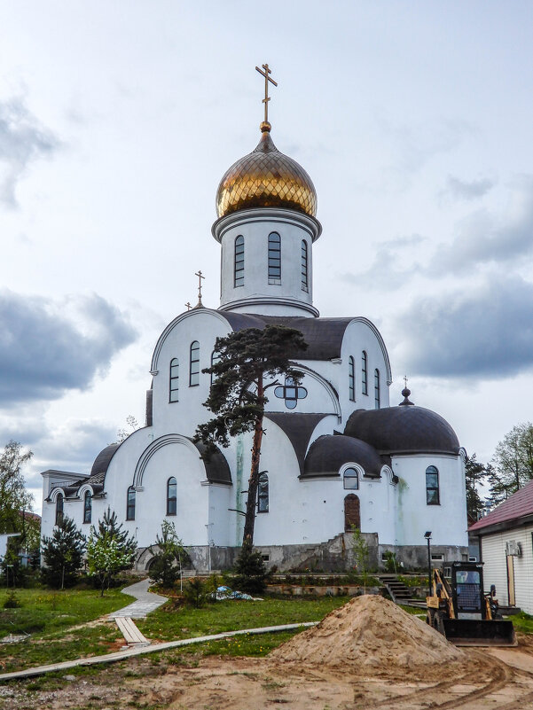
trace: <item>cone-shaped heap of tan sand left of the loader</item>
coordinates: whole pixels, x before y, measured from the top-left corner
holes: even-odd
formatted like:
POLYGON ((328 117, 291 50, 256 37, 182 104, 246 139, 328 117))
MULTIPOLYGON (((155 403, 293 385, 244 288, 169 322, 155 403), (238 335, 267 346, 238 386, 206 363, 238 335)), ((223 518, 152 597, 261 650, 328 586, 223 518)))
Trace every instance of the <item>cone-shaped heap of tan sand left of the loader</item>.
POLYGON ((420 619, 383 597, 356 597, 270 653, 313 665, 357 665, 384 671, 465 659, 420 619))

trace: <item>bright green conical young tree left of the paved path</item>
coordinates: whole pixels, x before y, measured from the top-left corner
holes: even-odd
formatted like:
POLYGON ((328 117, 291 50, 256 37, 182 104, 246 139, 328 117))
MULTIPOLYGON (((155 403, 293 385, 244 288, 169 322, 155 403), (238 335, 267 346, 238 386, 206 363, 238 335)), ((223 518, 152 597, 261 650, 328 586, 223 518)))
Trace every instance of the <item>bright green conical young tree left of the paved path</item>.
POLYGON ((101 597, 104 589, 109 589, 114 575, 131 569, 135 562, 137 542, 122 530, 122 525, 117 526, 117 521, 116 513, 107 508, 104 518, 98 520, 98 530, 90 526, 87 565, 89 573, 98 580, 101 597))

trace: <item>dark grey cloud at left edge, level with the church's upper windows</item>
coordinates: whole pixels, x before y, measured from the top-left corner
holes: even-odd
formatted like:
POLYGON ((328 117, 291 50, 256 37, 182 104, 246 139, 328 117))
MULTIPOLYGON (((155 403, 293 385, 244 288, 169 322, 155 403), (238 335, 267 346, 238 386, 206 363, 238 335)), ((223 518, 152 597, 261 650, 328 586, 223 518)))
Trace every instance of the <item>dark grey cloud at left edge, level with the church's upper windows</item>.
POLYGON ((135 338, 128 318, 96 294, 58 305, 0 293, 0 407, 90 386, 135 338))

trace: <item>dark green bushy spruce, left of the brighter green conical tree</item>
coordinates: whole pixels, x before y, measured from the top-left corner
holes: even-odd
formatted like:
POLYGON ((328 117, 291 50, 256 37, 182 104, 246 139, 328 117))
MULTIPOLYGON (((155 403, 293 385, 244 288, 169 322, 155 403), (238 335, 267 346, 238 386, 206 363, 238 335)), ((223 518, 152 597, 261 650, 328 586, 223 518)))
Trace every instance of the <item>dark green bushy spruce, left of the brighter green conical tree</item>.
POLYGON ((54 527, 51 537, 43 538, 43 579, 51 587, 71 587, 83 563, 86 540, 67 515, 54 527))

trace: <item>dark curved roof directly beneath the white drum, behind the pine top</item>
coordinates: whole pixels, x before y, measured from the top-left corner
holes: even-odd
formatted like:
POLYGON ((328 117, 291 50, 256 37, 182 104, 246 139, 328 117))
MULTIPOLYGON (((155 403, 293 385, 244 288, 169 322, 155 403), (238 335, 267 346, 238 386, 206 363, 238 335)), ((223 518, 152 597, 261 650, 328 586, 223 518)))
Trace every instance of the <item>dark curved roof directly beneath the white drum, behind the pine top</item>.
POLYGON ((259 328, 266 325, 285 325, 300 331, 308 345, 304 352, 294 353, 293 357, 306 360, 332 360, 341 357, 342 339, 348 324, 353 318, 305 318, 301 316, 255 316, 247 313, 222 311, 223 317, 233 331, 245 328, 259 328))

